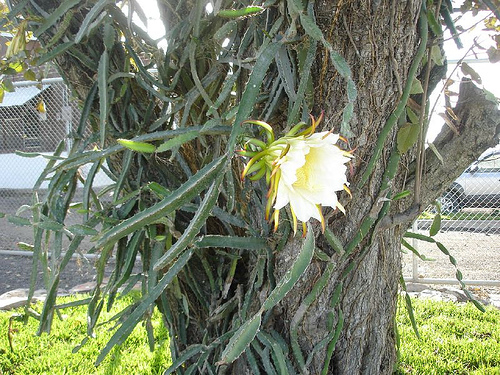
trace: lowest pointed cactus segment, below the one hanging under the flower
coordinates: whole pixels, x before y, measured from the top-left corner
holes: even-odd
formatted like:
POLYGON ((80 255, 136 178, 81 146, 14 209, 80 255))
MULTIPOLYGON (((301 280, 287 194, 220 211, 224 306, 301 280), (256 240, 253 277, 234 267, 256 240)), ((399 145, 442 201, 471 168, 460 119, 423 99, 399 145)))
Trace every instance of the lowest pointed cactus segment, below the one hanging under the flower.
POLYGON ((250 345, 257 332, 259 332, 261 320, 262 313, 259 312, 252 319, 242 324, 229 340, 229 343, 222 352, 221 360, 216 364, 223 365, 234 362, 250 345))

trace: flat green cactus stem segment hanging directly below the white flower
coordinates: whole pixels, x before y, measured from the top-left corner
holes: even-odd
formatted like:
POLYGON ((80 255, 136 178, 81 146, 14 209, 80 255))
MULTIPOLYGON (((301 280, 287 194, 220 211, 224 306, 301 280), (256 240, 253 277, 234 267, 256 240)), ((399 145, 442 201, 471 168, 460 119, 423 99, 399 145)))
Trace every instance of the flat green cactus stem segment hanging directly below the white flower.
POLYGON ((292 290, 311 263, 314 254, 314 246, 314 232, 309 228, 299 255, 262 304, 262 311, 269 310, 276 306, 288 292, 292 290))

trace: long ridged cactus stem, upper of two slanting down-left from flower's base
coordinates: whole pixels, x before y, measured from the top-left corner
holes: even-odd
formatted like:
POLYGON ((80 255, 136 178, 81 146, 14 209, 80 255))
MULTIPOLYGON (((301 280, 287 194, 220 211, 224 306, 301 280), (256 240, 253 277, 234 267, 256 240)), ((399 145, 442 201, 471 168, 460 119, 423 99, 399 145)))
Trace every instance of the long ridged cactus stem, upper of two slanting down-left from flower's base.
POLYGON ((226 155, 214 160, 162 201, 122 221, 107 232, 104 232, 98 240, 96 247, 99 248, 108 243, 115 243, 118 239, 178 209, 184 203, 199 194, 211 181, 213 181, 213 177, 221 171, 226 161, 226 155))

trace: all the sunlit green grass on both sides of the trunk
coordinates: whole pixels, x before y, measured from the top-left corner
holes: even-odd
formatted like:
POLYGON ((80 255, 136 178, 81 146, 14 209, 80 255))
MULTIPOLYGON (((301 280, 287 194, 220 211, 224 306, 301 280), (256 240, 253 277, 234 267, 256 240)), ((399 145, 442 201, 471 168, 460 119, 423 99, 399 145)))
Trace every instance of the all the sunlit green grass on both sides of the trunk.
MULTIPOLYGON (((83 296, 65 297, 60 303, 83 296)), ((123 309, 132 297, 118 300, 110 318, 123 309)), ((481 313, 472 304, 433 302, 413 299, 415 319, 421 340, 415 336, 404 308, 397 315, 401 349, 396 374, 500 374, 500 310, 488 307, 481 313)), ((41 305, 37 306, 38 308, 41 305)), ((162 374, 170 363, 168 334, 158 312, 153 316, 157 339, 154 353, 149 351, 145 330, 138 326, 121 347, 115 348, 104 362, 94 367, 99 350, 111 337, 111 325, 96 330, 77 353, 72 350, 85 337, 85 307, 62 311, 64 319, 54 320, 50 335, 35 336, 34 319, 24 326, 13 321, 12 344, 7 332, 9 318, 22 310, 0 313, 0 374, 162 374)))

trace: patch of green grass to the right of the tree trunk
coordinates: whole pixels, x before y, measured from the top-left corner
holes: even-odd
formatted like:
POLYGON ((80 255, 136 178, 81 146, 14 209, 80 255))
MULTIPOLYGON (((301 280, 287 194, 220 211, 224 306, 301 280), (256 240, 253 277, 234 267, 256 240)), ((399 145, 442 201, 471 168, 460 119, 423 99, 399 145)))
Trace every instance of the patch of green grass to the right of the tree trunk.
POLYGON ((397 374, 500 374, 500 310, 422 299, 412 304, 421 340, 401 303, 397 374))

